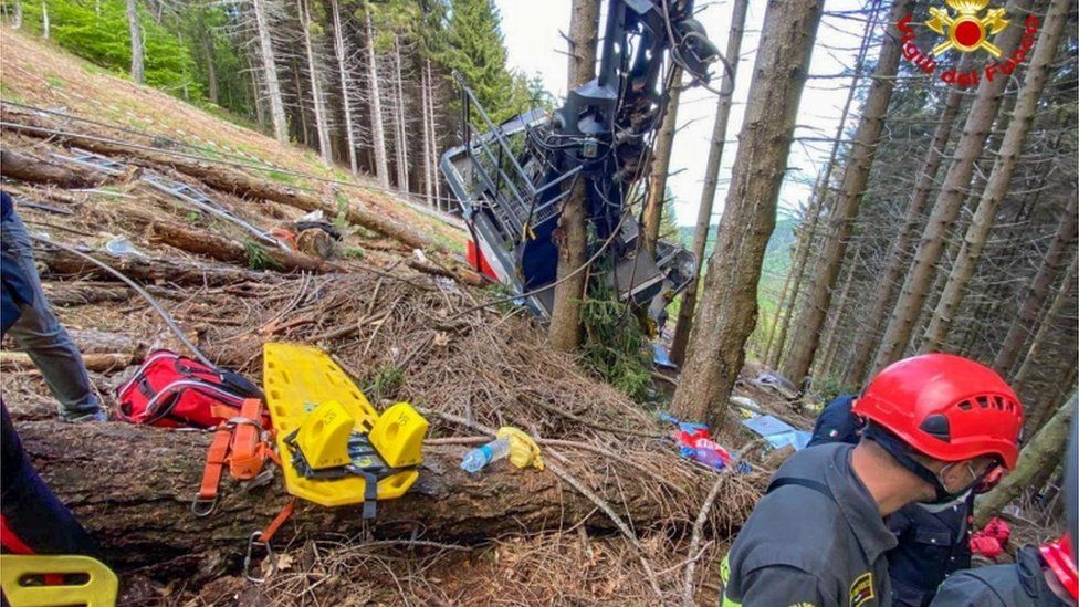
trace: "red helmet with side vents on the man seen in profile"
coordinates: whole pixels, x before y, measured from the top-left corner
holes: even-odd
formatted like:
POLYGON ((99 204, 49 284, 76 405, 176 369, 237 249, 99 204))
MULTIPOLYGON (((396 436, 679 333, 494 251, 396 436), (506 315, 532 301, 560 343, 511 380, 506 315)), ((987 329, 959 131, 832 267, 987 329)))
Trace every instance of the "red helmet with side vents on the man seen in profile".
POLYGON ((962 356, 923 354, 889 365, 852 412, 936 460, 996 456, 1010 470, 1019 457, 1023 405, 996 371, 962 356))

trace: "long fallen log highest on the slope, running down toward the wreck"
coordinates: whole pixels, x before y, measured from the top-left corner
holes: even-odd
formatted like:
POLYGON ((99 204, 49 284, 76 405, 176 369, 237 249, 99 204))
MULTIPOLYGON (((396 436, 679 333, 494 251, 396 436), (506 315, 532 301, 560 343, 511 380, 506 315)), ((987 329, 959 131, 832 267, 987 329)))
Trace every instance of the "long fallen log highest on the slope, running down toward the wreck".
MULTIPOLYGON (((145 149, 146 146, 123 145, 119 142, 112 142, 105 137, 74 134, 71 127, 61 128, 51 121, 21 112, 4 109, 0 115, 2 115, 4 122, 3 128, 6 129, 31 137, 51 137, 55 140, 105 156, 128 156, 150 163, 151 165, 171 167, 184 175, 199 179, 211 188, 234 196, 272 200, 307 212, 322 210, 329 217, 336 216, 338 211, 336 205, 331 201, 323 201, 318 197, 303 192, 296 188, 271 184, 263 177, 254 177, 243 172, 240 167, 230 169, 224 168, 222 165, 167 154, 165 150, 160 153, 149 151, 145 149), (57 135, 51 133, 51 130, 55 129, 66 134, 57 135)), ((408 226, 378 212, 360 209, 355 205, 349 205, 345 212, 349 222, 385 234, 411 249, 433 249, 441 253, 448 253, 443 244, 432 241, 408 226)))

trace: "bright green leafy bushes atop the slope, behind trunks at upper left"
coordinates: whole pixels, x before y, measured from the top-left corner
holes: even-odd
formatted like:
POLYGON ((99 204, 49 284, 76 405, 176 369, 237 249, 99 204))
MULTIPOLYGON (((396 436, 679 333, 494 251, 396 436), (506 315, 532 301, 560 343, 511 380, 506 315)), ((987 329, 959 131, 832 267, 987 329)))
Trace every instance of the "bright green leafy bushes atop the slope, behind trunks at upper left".
MULTIPOLYGON (((50 35, 60 45, 118 74, 130 70, 132 48, 124 0, 46 0, 50 35), (95 7, 99 8, 95 10, 95 7)), ((41 4, 24 3, 28 27, 41 30, 41 4)), ((140 6, 145 46, 145 79, 172 94, 200 97, 195 59, 175 31, 159 24, 140 6)))

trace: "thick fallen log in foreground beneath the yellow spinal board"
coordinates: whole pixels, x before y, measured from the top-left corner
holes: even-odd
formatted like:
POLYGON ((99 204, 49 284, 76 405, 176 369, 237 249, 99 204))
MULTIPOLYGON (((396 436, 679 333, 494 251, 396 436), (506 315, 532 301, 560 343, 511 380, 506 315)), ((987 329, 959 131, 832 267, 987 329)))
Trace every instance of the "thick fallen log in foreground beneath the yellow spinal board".
MULTIPOLYGON (((206 433, 18 417, 15 428, 45 481, 96 534, 121 571, 144 568, 168 577, 234 571, 251 533, 263 528, 287 501, 280 474, 270 485, 250 492, 226 481, 217 511, 207 517, 193 515, 191 501, 210 441, 206 433)), ((379 502, 374 523, 363 520, 358 506, 331 509, 300 501, 274 544, 284 546, 301 535, 354 536, 365 530, 376 537, 409 537, 415 531, 428 540, 468 542, 565 528, 585 520, 591 528, 614 528, 591 501, 549 472, 496 465, 470 477, 458 467, 464 449, 429 447, 419 481, 404 498, 379 502)), ((575 458, 580 465, 594 459, 593 464, 603 465, 591 453, 575 458)), ((638 533, 672 516, 657 499, 657 491, 662 493, 657 481, 633 475, 597 478, 601 486, 590 489, 599 495, 617 495, 614 509, 631 520, 638 533)), ((703 490, 687 489, 687 512, 675 516, 689 520, 703 490)), ((744 514, 730 516, 725 523, 737 526, 744 514)))

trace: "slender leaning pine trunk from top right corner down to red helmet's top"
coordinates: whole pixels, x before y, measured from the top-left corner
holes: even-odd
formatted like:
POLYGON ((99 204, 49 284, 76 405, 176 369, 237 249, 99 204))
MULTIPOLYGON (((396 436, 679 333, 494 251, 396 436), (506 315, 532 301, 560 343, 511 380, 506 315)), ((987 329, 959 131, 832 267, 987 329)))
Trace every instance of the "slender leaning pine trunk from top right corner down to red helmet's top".
POLYGON ((925 336, 922 338, 921 352, 935 352, 944 345, 944 339, 952 327, 952 321, 958 313, 960 305, 966 296, 966 286, 974 275, 982 251, 988 240, 989 231, 996 221, 997 209, 1008 192, 1008 185, 1015 174, 1016 163, 1023 154, 1030 125, 1034 123, 1041 91, 1045 87, 1049 66, 1056 55, 1060 35, 1068 21, 1071 0, 1055 0, 1045 18, 1045 25, 1034 50, 1030 65, 1027 67, 1023 87, 1016 101, 1012 119, 1008 122, 1004 142, 1001 144, 996 163, 982 191, 974 219, 966 230, 963 247, 960 249, 949 275, 947 284, 936 304, 933 318, 930 321, 925 336))

